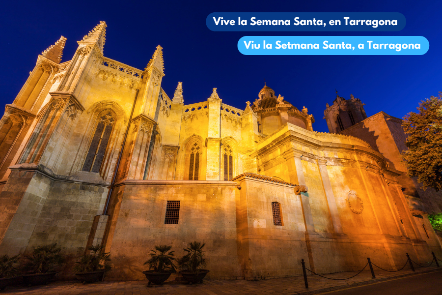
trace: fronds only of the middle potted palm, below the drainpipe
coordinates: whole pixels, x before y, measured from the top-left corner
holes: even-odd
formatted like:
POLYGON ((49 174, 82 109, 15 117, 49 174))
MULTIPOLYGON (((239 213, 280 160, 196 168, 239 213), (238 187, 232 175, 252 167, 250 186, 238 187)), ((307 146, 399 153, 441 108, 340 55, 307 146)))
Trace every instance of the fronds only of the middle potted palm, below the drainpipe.
POLYGON ((97 270, 111 270, 112 266, 109 264, 111 261, 111 254, 104 252, 103 245, 89 246, 90 254, 85 254, 80 258, 80 261, 76 262, 74 266, 74 272, 92 272, 97 270))

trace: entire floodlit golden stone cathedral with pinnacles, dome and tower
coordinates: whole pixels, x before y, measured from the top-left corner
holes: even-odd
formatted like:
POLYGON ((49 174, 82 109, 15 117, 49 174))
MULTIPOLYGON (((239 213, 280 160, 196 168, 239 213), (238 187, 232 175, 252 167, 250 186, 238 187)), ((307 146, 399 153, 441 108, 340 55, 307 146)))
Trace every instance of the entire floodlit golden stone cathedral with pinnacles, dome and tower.
POLYGON ((315 132, 305 106, 266 85, 244 109, 216 88, 186 105, 181 82, 171 98, 161 87, 162 47, 140 70, 103 55, 105 34, 100 22, 63 62, 62 36, 5 107, 0 255, 56 242, 72 266, 103 244, 108 280, 145 279, 154 245, 180 256, 193 240, 209 279, 299 275, 301 259, 331 273, 442 257, 427 217, 442 197, 406 177, 400 119, 367 118, 336 93, 330 133, 315 132))

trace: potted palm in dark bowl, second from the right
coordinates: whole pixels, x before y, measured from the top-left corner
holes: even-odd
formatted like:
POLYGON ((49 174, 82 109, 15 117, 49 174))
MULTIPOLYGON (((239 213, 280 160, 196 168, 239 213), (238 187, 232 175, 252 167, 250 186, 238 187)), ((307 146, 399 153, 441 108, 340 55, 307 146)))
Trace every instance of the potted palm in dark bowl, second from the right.
POLYGON ((150 258, 143 265, 148 265, 150 270, 143 271, 149 282, 148 285, 156 284, 163 285, 172 272, 175 272, 175 265, 173 261, 175 260, 173 251, 170 251, 172 246, 159 245, 155 246, 155 250, 150 250, 150 258))

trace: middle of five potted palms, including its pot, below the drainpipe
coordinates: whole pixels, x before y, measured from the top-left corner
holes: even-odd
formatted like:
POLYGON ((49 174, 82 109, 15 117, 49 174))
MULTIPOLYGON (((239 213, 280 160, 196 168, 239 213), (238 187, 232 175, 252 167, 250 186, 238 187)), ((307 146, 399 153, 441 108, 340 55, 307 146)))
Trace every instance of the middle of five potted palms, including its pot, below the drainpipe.
POLYGON ((85 254, 76 262, 74 272, 77 279, 83 284, 103 280, 106 271, 111 270, 111 254, 104 252, 103 245, 89 246, 90 254, 85 254))

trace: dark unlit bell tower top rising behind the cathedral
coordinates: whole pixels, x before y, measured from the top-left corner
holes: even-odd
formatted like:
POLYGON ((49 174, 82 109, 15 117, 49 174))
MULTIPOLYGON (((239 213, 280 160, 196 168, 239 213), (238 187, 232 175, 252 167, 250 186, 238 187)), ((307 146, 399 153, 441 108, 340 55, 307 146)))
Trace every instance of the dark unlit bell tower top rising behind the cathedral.
POLYGON ((327 108, 324 111, 324 119, 327 120, 329 132, 339 133, 366 119, 367 115, 365 115, 364 105, 353 94, 350 94, 350 99, 345 99, 339 96, 336 91, 336 98, 333 100, 333 104, 331 106, 327 104, 327 108))

